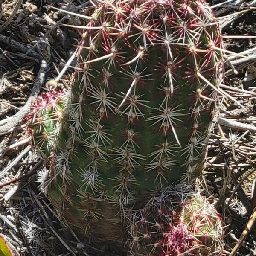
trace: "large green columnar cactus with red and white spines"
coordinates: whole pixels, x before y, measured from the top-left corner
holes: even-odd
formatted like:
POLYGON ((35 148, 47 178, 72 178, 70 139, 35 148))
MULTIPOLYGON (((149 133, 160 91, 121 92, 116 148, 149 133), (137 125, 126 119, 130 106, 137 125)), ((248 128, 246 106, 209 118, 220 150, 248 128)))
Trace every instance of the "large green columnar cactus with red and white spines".
POLYGON ((51 159, 47 193, 60 215, 87 237, 123 244, 120 216, 201 173, 222 39, 204 0, 96 2, 78 28, 78 66, 61 120, 41 116, 43 137, 41 122, 32 125, 51 159))

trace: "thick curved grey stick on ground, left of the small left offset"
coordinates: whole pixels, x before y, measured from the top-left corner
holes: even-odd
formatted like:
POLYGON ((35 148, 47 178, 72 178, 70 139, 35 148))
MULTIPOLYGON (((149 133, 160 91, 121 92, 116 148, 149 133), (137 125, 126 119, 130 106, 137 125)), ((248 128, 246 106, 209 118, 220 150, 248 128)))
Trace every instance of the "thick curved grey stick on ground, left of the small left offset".
POLYGON ((23 117, 26 116, 27 113, 29 113, 31 104, 35 102, 40 92, 41 85, 44 83, 47 69, 48 69, 48 65, 46 61, 42 60, 40 70, 38 71, 38 75, 35 79, 35 84, 32 88, 28 101, 20 109, 20 111, 18 111, 14 116, 12 116, 12 119, 10 119, 10 121, 8 121, 5 125, 0 126, 0 134, 3 132, 7 132, 13 127, 15 127, 16 125, 18 125, 19 122, 23 119, 23 117))

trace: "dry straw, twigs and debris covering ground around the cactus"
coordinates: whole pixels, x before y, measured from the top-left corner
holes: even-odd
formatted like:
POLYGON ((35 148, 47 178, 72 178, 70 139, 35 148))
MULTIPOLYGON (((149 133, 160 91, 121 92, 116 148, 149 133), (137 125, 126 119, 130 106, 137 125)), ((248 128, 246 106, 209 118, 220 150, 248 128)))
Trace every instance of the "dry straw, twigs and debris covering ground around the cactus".
MULTIPOLYGON (((79 34, 62 24, 86 25, 71 13, 87 15, 91 3, 93 0, 0 1, 0 233, 20 256, 113 255, 109 249, 97 250, 80 241, 67 223, 58 220, 38 189, 46 172, 32 154, 20 123, 40 87, 41 92, 50 86, 67 88, 70 66, 76 65, 72 56, 79 34), (45 77, 39 78, 39 70, 45 77), (44 81, 51 79, 58 83, 46 86, 44 81)), ((221 23, 227 49, 221 87, 232 98, 221 97, 220 117, 215 120, 207 166, 198 186, 216 201, 227 224, 226 255, 238 245, 235 255, 256 255, 253 225, 238 244, 256 207, 256 0, 212 0, 210 4, 221 23)))

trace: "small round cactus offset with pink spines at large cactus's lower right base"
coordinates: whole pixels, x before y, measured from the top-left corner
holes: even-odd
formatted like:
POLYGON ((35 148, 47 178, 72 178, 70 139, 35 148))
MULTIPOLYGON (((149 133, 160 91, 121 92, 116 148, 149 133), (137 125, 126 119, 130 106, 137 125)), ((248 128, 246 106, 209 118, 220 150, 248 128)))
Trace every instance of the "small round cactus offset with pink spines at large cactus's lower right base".
POLYGON ((222 255, 218 212, 185 184, 166 187, 128 221, 127 248, 133 256, 222 255))

